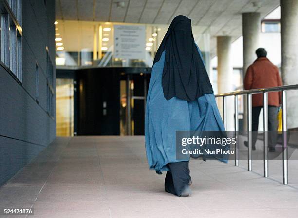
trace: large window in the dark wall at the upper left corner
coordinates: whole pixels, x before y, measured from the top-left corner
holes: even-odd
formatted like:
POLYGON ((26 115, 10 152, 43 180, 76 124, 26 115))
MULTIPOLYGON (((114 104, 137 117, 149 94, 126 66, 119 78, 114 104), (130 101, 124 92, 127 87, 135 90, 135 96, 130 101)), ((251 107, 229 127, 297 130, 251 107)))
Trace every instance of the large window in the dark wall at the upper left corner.
POLYGON ((1 64, 22 81, 21 0, 1 1, 1 64))

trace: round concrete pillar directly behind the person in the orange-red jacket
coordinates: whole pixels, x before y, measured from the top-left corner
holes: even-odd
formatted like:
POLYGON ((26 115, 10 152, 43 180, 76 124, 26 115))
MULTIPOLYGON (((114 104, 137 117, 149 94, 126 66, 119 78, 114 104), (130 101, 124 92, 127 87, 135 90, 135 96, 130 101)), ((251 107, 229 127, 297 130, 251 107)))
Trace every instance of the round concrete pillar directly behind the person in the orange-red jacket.
MULTIPOLYGON (((243 74, 242 81, 244 80, 245 73, 249 65, 251 65, 257 56, 255 51, 259 48, 261 33, 261 16, 258 12, 242 13, 242 34, 243 34, 243 74)), ((247 103, 246 96, 243 99, 243 128, 247 130, 247 103)))

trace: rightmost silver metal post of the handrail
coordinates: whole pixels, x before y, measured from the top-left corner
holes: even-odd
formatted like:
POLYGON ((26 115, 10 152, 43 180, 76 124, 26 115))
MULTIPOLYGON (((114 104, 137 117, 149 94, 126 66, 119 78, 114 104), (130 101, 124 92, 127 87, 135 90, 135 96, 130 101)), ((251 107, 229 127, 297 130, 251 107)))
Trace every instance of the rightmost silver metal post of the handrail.
POLYGON ((282 171, 283 184, 288 184, 287 94, 282 91, 282 171))

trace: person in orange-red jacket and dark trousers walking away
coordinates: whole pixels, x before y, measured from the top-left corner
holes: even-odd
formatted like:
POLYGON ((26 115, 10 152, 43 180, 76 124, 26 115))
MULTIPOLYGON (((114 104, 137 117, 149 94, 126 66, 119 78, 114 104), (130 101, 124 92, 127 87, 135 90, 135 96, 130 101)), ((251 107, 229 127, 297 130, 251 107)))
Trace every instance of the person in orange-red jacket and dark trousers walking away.
MULTIPOLYGON (((244 88, 258 89, 281 86, 282 81, 279 75, 279 69, 272 64, 267 56, 267 51, 264 48, 256 50, 257 59, 251 64, 246 71, 244 78, 244 88)), ((277 140, 277 114, 278 108, 281 104, 280 92, 268 93, 268 130, 269 132, 269 151, 275 151, 275 144, 277 140)), ((263 94, 252 95, 252 149, 255 150, 257 141, 257 131, 259 126, 259 115, 263 107, 263 94)), ((247 141, 244 142, 247 147, 247 141)))

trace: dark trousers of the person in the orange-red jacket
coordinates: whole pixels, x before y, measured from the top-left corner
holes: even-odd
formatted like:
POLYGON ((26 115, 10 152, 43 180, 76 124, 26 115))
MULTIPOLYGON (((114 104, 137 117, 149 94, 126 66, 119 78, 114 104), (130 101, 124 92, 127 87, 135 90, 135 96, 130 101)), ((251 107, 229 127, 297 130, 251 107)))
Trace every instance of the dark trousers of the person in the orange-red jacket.
MULTIPOLYGON (((252 108, 252 146, 254 147, 257 141, 258 136, 258 126, 259 126, 259 115, 262 106, 260 107, 253 107, 252 108)), ((278 114, 278 107, 276 106, 268 106, 268 146, 275 147, 276 140, 277 140, 277 114, 278 114)))

